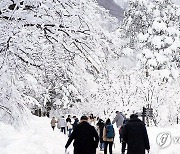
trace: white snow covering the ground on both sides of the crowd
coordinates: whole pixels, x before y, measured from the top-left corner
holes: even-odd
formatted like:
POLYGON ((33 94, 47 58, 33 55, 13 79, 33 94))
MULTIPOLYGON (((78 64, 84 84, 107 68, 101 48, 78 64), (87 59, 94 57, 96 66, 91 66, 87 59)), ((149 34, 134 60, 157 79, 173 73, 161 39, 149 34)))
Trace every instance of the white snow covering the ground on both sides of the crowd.
MULTIPOLYGON (((64 154, 68 137, 57 128, 53 131, 50 121, 51 119, 46 117, 33 116, 28 126, 24 126, 19 131, 0 122, 0 154, 64 154)), ((180 153, 180 125, 147 129, 151 144, 150 154, 180 153)), ((116 134, 118 134, 117 129, 116 134)), ((113 154, 120 154, 120 149, 121 145, 116 135, 113 154)), ((72 144, 68 151, 73 154, 72 144)), ((97 154, 103 152, 97 150, 97 154)))

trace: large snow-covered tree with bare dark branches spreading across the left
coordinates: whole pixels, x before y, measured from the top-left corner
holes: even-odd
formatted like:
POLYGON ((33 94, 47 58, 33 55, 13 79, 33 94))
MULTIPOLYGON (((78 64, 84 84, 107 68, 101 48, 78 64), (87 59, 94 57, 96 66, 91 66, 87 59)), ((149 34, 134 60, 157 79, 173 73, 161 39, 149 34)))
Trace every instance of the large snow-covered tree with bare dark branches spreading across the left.
POLYGON ((17 93, 2 97, 7 114, 30 97, 77 109, 90 102, 90 84, 106 78, 108 58, 120 48, 112 35, 118 20, 92 0, 3 0, 0 21, 1 80, 11 81, 1 87, 17 93))

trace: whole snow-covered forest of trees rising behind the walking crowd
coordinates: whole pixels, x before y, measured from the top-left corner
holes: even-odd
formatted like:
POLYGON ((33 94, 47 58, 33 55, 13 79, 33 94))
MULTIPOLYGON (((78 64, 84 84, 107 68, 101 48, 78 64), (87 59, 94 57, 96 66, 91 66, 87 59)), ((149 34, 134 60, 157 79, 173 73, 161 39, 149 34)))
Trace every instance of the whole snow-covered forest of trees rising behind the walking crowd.
POLYGON ((35 104, 99 115, 150 104, 173 123, 179 18, 170 0, 131 0, 122 23, 96 0, 2 0, 0 119, 19 125, 35 104))

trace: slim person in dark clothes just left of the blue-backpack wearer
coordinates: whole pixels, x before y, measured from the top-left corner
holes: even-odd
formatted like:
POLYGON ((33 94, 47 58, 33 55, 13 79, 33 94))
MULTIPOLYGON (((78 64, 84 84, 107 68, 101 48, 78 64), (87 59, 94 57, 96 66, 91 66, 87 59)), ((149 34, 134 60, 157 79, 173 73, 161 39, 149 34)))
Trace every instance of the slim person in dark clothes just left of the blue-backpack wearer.
POLYGON ((97 125, 99 139, 100 139, 100 151, 104 150, 104 141, 103 141, 103 129, 104 129, 104 121, 102 119, 99 119, 97 125))

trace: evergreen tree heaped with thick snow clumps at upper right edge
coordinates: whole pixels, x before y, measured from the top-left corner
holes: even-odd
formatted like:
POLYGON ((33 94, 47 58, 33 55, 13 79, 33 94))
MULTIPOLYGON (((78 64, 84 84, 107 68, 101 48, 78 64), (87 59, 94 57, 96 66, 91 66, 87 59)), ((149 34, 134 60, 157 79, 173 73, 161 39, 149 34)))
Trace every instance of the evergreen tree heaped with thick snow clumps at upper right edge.
POLYGON ((164 80, 176 79, 179 65, 179 7, 170 1, 154 3, 152 25, 146 33, 138 36, 140 65, 148 74, 155 71, 164 80))

